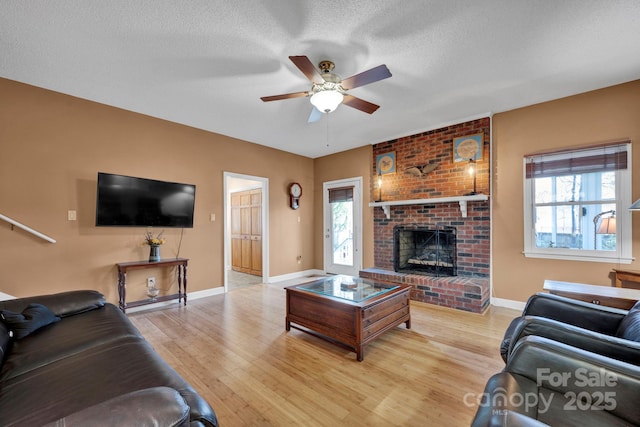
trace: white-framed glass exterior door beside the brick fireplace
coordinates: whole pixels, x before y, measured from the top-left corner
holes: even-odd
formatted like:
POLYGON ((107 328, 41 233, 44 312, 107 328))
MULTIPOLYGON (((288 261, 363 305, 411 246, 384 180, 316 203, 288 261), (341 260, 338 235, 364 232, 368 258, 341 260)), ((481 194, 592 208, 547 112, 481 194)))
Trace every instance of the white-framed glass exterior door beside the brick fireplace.
POLYGON ((358 276, 362 269, 362 177, 323 183, 324 270, 358 276))

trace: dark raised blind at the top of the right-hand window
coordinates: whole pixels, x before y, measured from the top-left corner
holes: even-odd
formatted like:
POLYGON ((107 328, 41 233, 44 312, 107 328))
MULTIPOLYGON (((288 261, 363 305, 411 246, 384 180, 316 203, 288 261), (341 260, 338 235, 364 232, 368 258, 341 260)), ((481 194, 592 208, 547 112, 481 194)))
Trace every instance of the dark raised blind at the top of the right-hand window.
POLYGON ((526 177, 544 178, 580 175, 627 168, 627 145, 630 141, 560 150, 525 156, 526 177))

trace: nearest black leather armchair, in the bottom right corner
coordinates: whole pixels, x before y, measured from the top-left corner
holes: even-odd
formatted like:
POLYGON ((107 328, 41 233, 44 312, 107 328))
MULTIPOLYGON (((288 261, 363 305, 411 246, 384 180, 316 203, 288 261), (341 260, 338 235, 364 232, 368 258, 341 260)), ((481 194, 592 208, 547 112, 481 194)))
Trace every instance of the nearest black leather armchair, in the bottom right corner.
POLYGON ((638 425, 639 395, 640 366, 527 336, 476 396, 471 425, 638 425))

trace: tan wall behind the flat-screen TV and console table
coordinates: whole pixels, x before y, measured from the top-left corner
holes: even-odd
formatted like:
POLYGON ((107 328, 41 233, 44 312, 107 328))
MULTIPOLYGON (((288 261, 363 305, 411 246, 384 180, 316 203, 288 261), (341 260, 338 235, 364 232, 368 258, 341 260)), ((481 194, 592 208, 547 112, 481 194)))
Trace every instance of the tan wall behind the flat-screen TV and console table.
MULTIPOLYGON (((90 288, 117 301, 115 263, 145 259, 148 248, 140 246, 144 228, 95 227, 98 171, 196 185, 194 228, 184 230, 180 250, 190 259, 189 291, 223 284, 223 171, 269 179, 270 276, 316 267, 314 197, 293 211, 287 193, 292 181, 314 188, 312 159, 9 80, 0 79, 0 93, 0 213, 57 240, 0 221, 0 292, 90 288), (78 221, 67 220, 68 210, 78 221)), ((175 256, 180 230, 165 237, 163 257, 175 256)), ((173 275, 134 271, 132 297, 150 275, 175 290, 173 275)))

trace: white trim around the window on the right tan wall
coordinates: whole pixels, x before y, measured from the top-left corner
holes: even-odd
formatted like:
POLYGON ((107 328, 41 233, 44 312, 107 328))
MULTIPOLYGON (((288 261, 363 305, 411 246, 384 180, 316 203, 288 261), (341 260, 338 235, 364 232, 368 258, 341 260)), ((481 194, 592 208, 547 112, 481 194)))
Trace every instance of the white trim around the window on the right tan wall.
MULTIPOLYGON (((524 182, 524 251, 527 258, 557 259, 566 261, 608 262, 631 264, 632 256, 631 212, 631 144, 627 144, 627 169, 616 171, 616 251, 594 251, 566 248, 535 247, 533 223, 533 185, 526 177, 526 158, 522 161, 524 182)), ((531 178, 533 179, 533 178, 531 178)))

